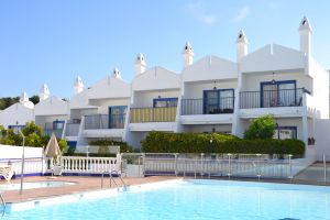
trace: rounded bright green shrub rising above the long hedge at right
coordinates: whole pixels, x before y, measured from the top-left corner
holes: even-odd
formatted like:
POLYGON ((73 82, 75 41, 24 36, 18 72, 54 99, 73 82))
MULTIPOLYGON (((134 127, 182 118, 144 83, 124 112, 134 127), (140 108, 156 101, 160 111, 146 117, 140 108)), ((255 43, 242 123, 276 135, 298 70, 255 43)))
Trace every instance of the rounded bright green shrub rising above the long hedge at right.
POLYGON ((251 121, 244 132, 244 139, 272 139, 275 130, 273 116, 264 116, 251 121))

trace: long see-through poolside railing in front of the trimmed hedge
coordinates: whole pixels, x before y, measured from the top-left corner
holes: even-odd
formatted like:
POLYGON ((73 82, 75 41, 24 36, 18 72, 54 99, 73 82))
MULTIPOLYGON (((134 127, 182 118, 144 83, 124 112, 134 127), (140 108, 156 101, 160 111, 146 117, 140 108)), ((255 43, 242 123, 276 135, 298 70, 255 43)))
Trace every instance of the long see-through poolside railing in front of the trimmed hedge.
MULTIPOLYGON (((123 154, 123 162, 129 155, 123 154)), ((290 155, 271 157, 266 154, 142 154, 142 162, 141 166, 146 176, 293 177, 290 155)))

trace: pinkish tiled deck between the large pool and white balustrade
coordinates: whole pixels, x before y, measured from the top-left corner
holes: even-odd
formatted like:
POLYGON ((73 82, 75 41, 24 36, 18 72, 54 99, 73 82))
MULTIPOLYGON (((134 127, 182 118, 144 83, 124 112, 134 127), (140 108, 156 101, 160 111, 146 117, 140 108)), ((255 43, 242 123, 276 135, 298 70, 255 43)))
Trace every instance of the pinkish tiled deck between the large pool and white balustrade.
MULTIPOLYGON (((140 185, 146 183, 155 183, 167 179, 175 179, 175 177, 164 177, 164 176, 155 176, 155 177, 144 177, 144 178, 123 178, 127 185, 140 185)), ((26 177, 24 178, 24 183, 28 182, 73 182, 75 185, 61 186, 61 187, 47 187, 47 188, 34 188, 34 189, 24 189, 23 194, 20 195, 20 190, 8 190, 3 191, 3 198, 6 202, 20 202, 20 201, 29 201, 34 199, 48 198, 54 196, 63 196, 70 194, 78 194, 84 191, 99 190, 101 189, 101 177, 76 177, 76 176, 61 176, 56 178, 52 177, 26 177)), ((19 184, 20 179, 13 179, 10 182, 11 184, 19 184)), ((121 186, 120 180, 117 180, 118 185, 121 186)), ((0 180, 0 185, 7 184, 4 180, 0 180)), ((113 184, 112 184, 112 187, 113 184)), ((105 177, 103 189, 110 188, 109 177, 105 177)))

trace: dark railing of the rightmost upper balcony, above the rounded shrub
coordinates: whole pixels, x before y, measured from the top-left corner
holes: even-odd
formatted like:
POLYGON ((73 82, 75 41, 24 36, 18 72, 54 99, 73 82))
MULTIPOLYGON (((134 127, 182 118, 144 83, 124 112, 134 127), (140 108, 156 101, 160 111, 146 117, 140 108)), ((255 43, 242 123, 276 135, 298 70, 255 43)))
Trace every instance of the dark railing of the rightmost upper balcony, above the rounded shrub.
POLYGON ((299 107, 302 106, 304 88, 264 91, 241 91, 240 109, 299 107))

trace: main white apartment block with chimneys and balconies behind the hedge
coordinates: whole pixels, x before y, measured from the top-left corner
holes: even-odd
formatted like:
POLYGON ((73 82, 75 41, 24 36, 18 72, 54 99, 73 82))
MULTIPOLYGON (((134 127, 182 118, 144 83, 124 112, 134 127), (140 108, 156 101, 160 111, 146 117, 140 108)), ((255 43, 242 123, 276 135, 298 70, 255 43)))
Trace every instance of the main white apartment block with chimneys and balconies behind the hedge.
POLYGON ((299 139, 314 157, 315 144, 322 142, 315 141, 319 120, 329 118, 329 73, 312 58, 307 18, 298 33, 298 50, 273 44, 248 53, 248 37, 240 31, 237 61, 207 55, 194 62, 194 50, 186 43, 180 73, 147 69, 138 54, 131 84, 121 79, 118 68, 85 90, 78 77, 63 135, 78 148, 97 139, 139 147, 150 131, 243 136, 252 119, 273 114, 274 138, 299 139))

